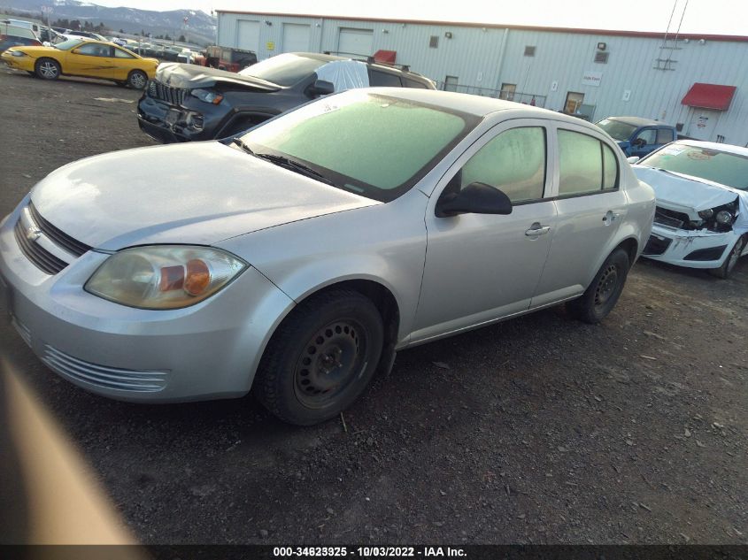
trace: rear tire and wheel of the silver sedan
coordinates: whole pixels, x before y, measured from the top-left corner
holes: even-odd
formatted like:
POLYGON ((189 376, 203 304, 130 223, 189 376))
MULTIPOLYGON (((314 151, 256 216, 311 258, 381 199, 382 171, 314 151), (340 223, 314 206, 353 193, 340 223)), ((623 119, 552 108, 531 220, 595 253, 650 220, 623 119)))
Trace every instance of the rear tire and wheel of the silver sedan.
POLYGON ((613 310, 628 275, 628 253, 615 249, 581 297, 567 303, 567 311, 585 323, 597 325, 613 310))

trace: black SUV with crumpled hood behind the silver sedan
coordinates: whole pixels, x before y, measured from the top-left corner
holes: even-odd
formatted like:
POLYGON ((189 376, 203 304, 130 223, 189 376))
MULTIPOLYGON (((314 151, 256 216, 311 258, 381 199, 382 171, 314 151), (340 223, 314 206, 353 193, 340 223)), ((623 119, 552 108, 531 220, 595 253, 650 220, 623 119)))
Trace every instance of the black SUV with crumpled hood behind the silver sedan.
POLYGON ((162 64, 138 103, 138 124, 158 142, 225 138, 341 89, 435 89, 406 67, 314 53, 286 53, 240 73, 162 64))

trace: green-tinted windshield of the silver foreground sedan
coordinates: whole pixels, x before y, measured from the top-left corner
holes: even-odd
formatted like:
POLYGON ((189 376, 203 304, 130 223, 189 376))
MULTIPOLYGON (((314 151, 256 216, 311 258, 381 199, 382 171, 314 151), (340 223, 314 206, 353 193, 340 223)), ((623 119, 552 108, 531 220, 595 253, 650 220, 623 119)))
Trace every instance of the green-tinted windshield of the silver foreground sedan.
POLYGON ((242 140, 257 154, 289 157, 335 187, 388 202, 413 187, 479 121, 353 89, 271 120, 242 140))

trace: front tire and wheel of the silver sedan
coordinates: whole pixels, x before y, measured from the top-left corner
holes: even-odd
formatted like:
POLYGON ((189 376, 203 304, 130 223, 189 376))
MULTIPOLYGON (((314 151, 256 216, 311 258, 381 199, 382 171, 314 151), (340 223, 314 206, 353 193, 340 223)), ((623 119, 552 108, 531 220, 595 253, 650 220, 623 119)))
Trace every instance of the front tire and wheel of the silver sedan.
POLYGON ((253 390, 276 417, 312 426, 348 408, 382 355, 382 316, 358 292, 335 290, 300 303, 273 334, 253 390))

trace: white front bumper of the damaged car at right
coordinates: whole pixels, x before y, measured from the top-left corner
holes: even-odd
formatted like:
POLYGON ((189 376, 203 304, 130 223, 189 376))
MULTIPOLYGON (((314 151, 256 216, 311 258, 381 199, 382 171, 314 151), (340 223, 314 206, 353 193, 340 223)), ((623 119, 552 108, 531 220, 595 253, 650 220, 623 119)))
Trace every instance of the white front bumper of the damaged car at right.
POLYGON ((655 223, 642 256, 689 268, 719 268, 738 239, 734 232, 692 231, 655 223))

